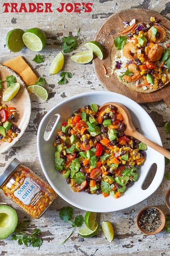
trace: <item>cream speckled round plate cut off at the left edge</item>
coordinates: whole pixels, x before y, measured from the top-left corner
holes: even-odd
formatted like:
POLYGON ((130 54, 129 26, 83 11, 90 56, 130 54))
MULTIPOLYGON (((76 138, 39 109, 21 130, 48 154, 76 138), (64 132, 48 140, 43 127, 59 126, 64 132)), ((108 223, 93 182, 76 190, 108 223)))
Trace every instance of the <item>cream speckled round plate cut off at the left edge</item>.
POLYGON ((3 80, 3 83, 2 83, 3 87, 0 90, 0 97, 1 97, 0 105, 6 104, 8 105, 8 107, 16 108, 17 110, 16 123, 14 123, 14 125, 16 125, 21 130, 21 132, 18 133, 18 136, 16 138, 13 138, 13 141, 11 143, 0 142, 0 153, 4 153, 20 139, 25 129, 27 128, 30 114, 31 114, 31 103, 30 103, 29 93, 24 82, 13 70, 0 64, 0 78, 1 80, 3 80), (13 75, 16 77, 17 82, 20 84, 20 89, 13 99, 11 99, 9 102, 4 102, 2 100, 2 96, 3 96, 3 92, 7 87, 6 82, 4 82, 4 80, 5 80, 5 76, 10 76, 10 75, 13 75))

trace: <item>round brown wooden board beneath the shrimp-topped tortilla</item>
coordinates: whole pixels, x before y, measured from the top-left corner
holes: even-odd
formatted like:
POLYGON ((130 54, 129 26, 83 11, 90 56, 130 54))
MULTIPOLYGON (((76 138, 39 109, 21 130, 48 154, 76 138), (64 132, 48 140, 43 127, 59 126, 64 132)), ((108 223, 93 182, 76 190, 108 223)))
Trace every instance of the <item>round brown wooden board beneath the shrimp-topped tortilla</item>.
MULTIPOLYGON (((137 22, 150 21, 150 17, 155 17, 161 20, 160 24, 170 30, 170 21, 164 18, 162 15, 152 12, 150 10, 144 9, 128 9, 119 13, 111 15, 107 21, 104 22, 103 26, 99 29, 95 40, 100 42, 105 49, 104 60, 95 58, 93 63, 95 67, 95 72, 99 77, 102 84, 109 90, 115 93, 123 94, 137 103, 155 102, 158 100, 164 100, 166 104, 170 107, 170 86, 165 85, 162 89, 154 91, 152 93, 138 93, 128 89, 124 84, 122 84, 114 75, 110 75, 109 78, 104 76, 104 70, 102 63, 105 67, 111 67, 110 53, 112 50, 112 45, 114 38, 118 35, 118 32, 123 30, 123 21, 131 21, 136 19, 137 22)), ((108 75, 110 73, 109 69, 108 75)))

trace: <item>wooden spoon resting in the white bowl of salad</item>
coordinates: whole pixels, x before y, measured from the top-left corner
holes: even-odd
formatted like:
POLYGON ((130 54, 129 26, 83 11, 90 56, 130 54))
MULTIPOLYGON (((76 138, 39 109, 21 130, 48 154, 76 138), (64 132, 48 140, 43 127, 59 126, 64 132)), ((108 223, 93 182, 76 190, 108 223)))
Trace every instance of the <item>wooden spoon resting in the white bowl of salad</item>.
POLYGON ((120 103, 114 103, 114 102, 108 102, 103 104, 99 110, 104 110, 105 108, 109 107, 109 105, 113 105, 117 108, 118 112, 122 114, 123 116, 123 123, 126 125, 126 128, 124 130, 125 135, 133 136, 134 138, 140 140, 141 142, 145 143, 147 146, 155 149, 160 154, 164 155, 168 159, 170 159, 170 152, 167 151, 165 148, 161 147, 160 145, 156 144, 155 142, 152 142, 152 140, 146 138, 144 135, 136 131, 135 127, 132 123, 131 114, 127 110, 126 107, 124 107, 120 103))

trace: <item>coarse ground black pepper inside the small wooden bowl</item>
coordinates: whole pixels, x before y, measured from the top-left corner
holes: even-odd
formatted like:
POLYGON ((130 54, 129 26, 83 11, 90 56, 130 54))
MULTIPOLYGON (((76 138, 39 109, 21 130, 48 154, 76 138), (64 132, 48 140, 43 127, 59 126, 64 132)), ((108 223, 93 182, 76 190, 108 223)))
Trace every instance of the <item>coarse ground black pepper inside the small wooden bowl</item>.
POLYGON ((148 208, 140 215, 138 224, 147 232, 154 232, 161 225, 160 212, 155 208, 148 208))

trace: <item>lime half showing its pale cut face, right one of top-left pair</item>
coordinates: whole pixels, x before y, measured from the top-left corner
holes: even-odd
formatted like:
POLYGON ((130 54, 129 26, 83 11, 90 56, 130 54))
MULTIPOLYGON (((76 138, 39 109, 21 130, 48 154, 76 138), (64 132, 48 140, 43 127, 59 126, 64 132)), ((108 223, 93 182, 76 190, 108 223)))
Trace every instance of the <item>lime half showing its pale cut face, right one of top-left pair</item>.
POLYGON ((24 44, 33 51, 41 51, 46 44, 46 35, 40 28, 30 28, 23 35, 24 44))

